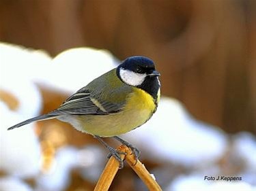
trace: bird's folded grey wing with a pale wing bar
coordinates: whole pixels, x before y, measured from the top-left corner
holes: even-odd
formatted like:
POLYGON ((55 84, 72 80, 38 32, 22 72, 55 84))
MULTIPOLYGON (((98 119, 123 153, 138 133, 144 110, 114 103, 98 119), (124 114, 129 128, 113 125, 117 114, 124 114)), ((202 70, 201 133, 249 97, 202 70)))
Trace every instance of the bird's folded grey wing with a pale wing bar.
POLYGON ((100 101, 96 97, 89 90, 82 88, 51 113, 59 115, 106 115, 117 113, 122 109, 122 105, 100 101))

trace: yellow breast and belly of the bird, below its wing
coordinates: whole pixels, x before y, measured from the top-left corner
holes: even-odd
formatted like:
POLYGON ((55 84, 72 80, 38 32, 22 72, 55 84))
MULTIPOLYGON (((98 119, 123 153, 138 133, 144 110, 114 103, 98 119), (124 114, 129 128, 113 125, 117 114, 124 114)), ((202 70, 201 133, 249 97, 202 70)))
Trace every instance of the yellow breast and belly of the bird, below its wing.
POLYGON ((76 128, 91 135, 113 137, 141 126, 151 118, 155 109, 152 96, 134 88, 121 112, 106 116, 79 116, 79 126, 76 128))

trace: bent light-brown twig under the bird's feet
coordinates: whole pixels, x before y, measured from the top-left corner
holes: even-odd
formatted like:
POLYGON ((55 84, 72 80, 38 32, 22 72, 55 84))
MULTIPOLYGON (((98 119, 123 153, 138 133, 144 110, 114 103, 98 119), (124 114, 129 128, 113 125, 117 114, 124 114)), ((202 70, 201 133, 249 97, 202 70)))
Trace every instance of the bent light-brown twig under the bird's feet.
MULTIPOLYGON (((156 180, 150 175, 150 173, 145 168, 144 164, 142 164, 139 160, 136 163, 136 159, 132 154, 132 150, 126 147, 126 145, 121 145, 117 150, 120 152, 125 152, 127 155, 120 154, 122 159, 126 159, 130 167, 139 175, 141 180, 147 186, 149 190, 162 190, 160 186, 157 184, 156 180), (136 163, 136 165, 134 165, 136 163)), ((109 162, 106 164, 106 167, 102 174, 100 175, 100 179, 94 188, 94 191, 104 191, 109 190, 111 183, 119 169, 119 162, 115 160, 115 158, 111 157, 109 162)))

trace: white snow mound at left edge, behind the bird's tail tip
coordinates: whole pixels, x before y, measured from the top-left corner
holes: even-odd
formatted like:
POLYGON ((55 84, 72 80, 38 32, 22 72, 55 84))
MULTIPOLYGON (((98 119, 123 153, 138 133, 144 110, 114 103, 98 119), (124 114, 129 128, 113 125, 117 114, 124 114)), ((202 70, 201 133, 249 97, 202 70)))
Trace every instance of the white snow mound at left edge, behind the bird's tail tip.
POLYGON ((33 124, 16 131, 7 128, 25 120, 0 101, 0 170, 20 177, 32 177, 40 171, 40 145, 33 124))

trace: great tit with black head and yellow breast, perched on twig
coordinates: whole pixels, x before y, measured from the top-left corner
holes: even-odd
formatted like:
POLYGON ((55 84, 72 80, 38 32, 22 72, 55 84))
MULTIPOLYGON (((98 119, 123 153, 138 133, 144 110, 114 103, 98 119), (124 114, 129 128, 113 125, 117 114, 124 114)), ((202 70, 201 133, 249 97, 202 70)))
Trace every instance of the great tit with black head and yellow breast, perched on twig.
POLYGON ((139 150, 117 137, 147 122, 158 107, 160 73, 145 56, 126 58, 117 68, 97 77, 72 94, 59 108, 48 114, 20 122, 8 130, 35 121, 57 118, 100 141, 124 167, 119 153, 101 137, 113 137, 132 149, 136 159, 139 150))

